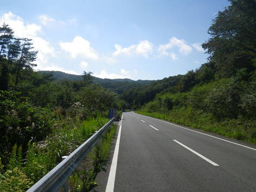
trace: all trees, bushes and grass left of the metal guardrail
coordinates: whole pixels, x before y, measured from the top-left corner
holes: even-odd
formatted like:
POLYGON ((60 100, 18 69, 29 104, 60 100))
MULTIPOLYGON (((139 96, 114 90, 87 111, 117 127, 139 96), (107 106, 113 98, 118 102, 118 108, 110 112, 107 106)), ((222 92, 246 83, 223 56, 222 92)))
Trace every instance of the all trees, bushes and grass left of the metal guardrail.
POLYGON ((122 108, 91 72, 54 82, 53 72, 33 71, 36 55, 31 39, 0 27, 1 192, 27 190, 106 124, 109 108, 122 108))

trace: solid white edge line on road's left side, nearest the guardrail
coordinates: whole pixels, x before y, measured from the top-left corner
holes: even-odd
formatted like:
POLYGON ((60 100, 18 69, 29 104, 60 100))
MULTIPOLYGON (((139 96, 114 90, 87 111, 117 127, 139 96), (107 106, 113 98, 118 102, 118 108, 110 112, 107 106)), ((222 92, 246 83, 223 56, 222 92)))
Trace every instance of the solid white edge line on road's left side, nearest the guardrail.
MULTIPOLYGON (((122 119, 123 119, 123 115, 122 115, 122 119)), ((116 167, 117 167, 117 158, 118 158, 118 152, 119 152, 119 143, 121 138, 121 130, 122 130, 122 126, 119 127, 119 131, 118 131, 116 147, 115 147, 115 151, 114 151, 114 155, 113 155, 113 159, 110 167, 106 192, 114 191, 114 187, 115 187, 116 167)))

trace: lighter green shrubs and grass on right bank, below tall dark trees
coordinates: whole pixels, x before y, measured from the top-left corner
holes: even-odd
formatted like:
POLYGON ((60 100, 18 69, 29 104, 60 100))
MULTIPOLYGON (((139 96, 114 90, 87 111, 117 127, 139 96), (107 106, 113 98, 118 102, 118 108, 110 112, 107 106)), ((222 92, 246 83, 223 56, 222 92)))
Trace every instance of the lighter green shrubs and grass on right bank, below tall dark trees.
POLYGON ((139 113, 255 143, 254 90, 255 81, 220 79, 186 93, 158 94, 139 113))

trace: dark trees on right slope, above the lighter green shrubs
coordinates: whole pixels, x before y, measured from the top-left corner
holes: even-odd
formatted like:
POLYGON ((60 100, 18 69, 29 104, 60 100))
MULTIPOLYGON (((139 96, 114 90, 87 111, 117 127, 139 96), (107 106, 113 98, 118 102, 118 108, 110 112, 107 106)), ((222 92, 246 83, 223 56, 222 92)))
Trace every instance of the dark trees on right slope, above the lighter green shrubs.
POLYGON ((237 76, 240 81, 255 79, 256 1, 229 0, 208 29, 210 38, 202 44, 209 62, 184 75, 180 91, 190 91, 199 83, 237 76))

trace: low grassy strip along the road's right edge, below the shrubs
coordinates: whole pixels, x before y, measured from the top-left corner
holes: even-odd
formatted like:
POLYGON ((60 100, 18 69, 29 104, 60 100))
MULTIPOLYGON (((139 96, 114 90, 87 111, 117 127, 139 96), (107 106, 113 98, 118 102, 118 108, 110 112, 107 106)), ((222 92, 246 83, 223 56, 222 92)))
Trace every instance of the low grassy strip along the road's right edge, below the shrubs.
POLYGON ((237 140, 247 141, 256 144, 256 121, 243 117, 237 119, 216 119, 213 114, 192 110, 190 107, 172 109, 167 113, 152 112, 146 110, 136 111, 145 116, 175 122, 190 128, 198 128, 237 140))

